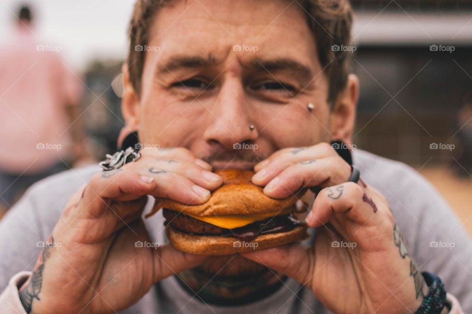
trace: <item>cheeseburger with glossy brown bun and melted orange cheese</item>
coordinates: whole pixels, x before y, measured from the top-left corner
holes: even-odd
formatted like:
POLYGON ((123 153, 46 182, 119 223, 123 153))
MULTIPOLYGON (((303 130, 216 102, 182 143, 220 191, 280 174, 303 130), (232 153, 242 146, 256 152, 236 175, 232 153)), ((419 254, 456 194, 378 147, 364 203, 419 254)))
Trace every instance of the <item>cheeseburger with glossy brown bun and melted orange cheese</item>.
POLYGON ((251 182, 253 171, 220 170, 223 184, 202 205, 156 199, 147 217, 163 209, 166 234, 180 251, 228 255, 284 245, 306 238, 306 225, 295 218, 296 201, 306 189, 273 199, 251 182))

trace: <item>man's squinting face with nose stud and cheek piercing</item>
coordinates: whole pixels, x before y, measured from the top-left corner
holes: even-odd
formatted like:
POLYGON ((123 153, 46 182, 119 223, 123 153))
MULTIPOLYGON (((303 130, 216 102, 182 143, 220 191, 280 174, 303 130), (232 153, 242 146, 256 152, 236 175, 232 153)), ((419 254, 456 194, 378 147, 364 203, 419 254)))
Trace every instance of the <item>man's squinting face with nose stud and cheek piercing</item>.
MULTIPOLYGON (((135 125, 127 119, 128 126, 141 143, 185 147, 214 169, 252 169, 279 149, 328 141, 328 85, 305 15, 284 0, 162 8, 144 52, 135 125)), ((226 262, 215 257, 204 267, 216 272, 226 262)), ((222 273, 257 268, 238 256, 222 273)))

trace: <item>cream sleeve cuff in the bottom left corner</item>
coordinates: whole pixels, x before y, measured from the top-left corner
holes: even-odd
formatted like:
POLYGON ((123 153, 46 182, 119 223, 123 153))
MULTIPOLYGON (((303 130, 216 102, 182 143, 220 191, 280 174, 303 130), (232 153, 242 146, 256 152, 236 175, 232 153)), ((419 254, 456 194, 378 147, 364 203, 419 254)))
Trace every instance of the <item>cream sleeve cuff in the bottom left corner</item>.
POLYGON ((15 274, 0 295, 1 313, 27 314, 20 301, 18 288, 31 275, 30 271, 22 271, 15 274))

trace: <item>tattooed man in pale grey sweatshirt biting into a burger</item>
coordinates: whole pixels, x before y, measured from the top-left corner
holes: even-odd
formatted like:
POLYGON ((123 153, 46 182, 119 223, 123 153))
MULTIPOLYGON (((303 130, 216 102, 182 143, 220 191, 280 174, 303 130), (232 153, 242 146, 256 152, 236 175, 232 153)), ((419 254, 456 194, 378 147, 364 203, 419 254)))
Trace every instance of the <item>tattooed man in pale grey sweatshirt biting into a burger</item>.
POLYGON ((463 313, 462 306, 470 313, 470 239, 437 192, 410 168, 361 151, 354 165, 362 180, 348 182, 351 166, 326 144, 352 143, 358 82, 345 52, 331 50, 349 44, 351 14, 344 0, 138 1, 122 111, 142 156, 111 172, 65 172, 29 190, 0 225, 0 250, 8 252, 2 287, 9 282, 1 306, 387 314, 463 313), (257 149, 235 150, 237 143, 257 149), (306 222, 316 229, 307 245, 191 255, 164 244, 161 214, 141 218, 151 196, 204 203, 222 183, 209 170, 225 167, 254 169, 253 183, 274 198, 321 187, 308 206, 306 222), (42 251, 34 248, 44 240, 42 251), (33 272, 22 271, 36 254, 33 272), (425 272, 425 283, 418 269, 444 281, 446 301, 440 281, 425 272))

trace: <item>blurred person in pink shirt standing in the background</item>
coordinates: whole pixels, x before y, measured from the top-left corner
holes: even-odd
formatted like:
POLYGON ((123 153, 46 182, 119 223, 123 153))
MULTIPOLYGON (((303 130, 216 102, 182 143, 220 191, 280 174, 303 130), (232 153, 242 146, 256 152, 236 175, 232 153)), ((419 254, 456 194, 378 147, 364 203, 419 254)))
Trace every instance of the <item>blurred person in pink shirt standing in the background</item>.
POLYGON ((67 169, 84 139, 83 88, 61 61, 61 47, 38 40, 28 6, 15 23, 0 48, 0 217, 29 185, 67 169))

